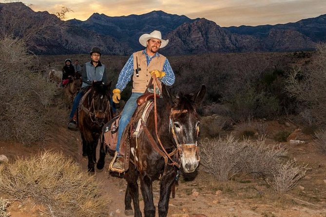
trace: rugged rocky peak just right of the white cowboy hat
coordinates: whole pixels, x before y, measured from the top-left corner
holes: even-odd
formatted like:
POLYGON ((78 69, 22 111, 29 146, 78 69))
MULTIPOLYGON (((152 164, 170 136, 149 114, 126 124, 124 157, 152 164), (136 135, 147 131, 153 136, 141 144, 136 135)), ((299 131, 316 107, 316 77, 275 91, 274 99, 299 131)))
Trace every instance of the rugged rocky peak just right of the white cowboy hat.
POLYGON ((167 54, 202 54, 219 52, 267 51, 254 36, 232 34, 214 22, 201 18, 184 23, 167 35, 171 42, 167 54))

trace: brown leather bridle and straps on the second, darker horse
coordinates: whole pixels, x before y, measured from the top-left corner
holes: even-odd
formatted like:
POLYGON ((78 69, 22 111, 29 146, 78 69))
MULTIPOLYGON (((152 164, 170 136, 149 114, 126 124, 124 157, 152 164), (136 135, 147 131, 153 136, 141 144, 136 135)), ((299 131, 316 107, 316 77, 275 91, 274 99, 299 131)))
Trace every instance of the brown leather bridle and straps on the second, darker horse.
MULTIPOLYGON (((83 95, 83 97, 81 98, 81 102, 84 102, 85 98, 87 97, 87 95, 90 93, 90 91, 92 90, 92 88, 90 88, 89 90, 87 90, 87 92, 83 95)), ((106 108, 105 111, 103 112, 103 110, 96 110, 95 109, 95 103, 94 103, 94 97, 92 97, 92 101, 91 104, 88 104, 88 108, 86 108, 83 103, 81 103, 81 109, 89 115, 91 121, 93 123, 96 123, 96 118, 101 118, 104 119, 106 117, 109 117, 110 113, 111 113, 111 106, 110 106, 110 99, 108 100, 107 104, 106 104, 106 108), (93 110, 93 111, 91 111, 93 110)))

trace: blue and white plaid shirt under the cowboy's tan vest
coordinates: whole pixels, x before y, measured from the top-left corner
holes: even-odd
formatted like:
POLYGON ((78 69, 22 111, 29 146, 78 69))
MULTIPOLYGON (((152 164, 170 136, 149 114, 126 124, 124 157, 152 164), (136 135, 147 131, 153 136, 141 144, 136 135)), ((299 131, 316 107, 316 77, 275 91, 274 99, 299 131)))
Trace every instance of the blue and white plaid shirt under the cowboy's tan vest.
MULTIPOLYGON (((160 54, 158 52, 155 53, 155 55, 153 55, 152 57, 150 57, 147 53, 146 53, 146 49, 143 51, 143 54, 146 55, 146 60, 147 60, 147 66, 150 64, 151 60, 155 57, 155 56, 159 56, 160 54)), ((165 76, 162 78, 159 78, 159 80, 164 83, 167 86, 171 86, 174 83, 175 80, 175 76, 173 73, 173 70, 171 68, 171 65, 169 63, 169 60, 166 59, 163 65, 163 72, 165 72, 165 76)), ((127 84, 129 83, 129 81, 131 80, 131 76, 134 74, 134 55, 132 54, 128 61, 126 62, 125 66, 122 68, 120 74, 119 74, 119 78, 118 78, 118 82, 115 85, 116 89, 119 90, 123 90, 125 89, 125 87, 127 86, 127 84)))

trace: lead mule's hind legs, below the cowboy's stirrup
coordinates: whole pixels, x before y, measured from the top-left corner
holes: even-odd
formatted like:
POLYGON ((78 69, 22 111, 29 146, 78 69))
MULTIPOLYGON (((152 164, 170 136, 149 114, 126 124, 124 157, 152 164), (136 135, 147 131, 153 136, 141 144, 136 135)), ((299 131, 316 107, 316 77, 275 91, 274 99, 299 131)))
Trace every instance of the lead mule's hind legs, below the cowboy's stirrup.
POLYGON ((125 179, 127 181, 127 189, 125 195, 125 215, 134 217, 141 217, 141 211, 139 207, 139 190, 138 190, 138 172, 133 164, 130 164, 129 170, 125 174, 125 179), (134 203, 134 213, 131 206, 131 201, 134 203))

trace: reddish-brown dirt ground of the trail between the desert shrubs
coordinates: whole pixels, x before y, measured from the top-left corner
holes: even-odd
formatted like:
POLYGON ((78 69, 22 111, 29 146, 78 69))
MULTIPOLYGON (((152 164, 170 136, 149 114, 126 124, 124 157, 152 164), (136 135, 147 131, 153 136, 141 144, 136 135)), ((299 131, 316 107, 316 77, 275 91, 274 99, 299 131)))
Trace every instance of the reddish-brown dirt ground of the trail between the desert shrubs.
MULTIPOLYGON (((72 132, 65 127, 58 127, 52 134, 49 143, 45 149, 62 151, 67 156, 73 157, 83 169, 87 168, 87 159, 81 156, 81 142, 79 132, 72 132)), ((0 142, 0 154, 5 154, 8 158, 15 156, 28 156, 31 153, 37 153, 41 149, 37 146, 21 146, 15 143, 0 142)), ((316 153, 311 151, 311 147, 298 147, 298 151, 309 154, 316 159, 316 153), (302 149, 302 150, 300 150, 302 149)), ((292 152, 295 152, 292 150, 292 152)), ((305 156, 309 159, 309 156, 305 156)), ((124 215, 124 194, 126 181, 112 176, 108 172, 108 163, 112 157, 106 157, 106 165, 101 173, 95 173, 95 177, 101 182, 102 196, 109 201, 109 216, 125 217, 124 215)), ((311 160, 311 158, 310 158, 311 160)), ((317 168, 321 173, 316 179, 325 178, 326 160, 319 156, 317 168)), ((317 176, 317 175, 316 175, 317 176)), ((311 182, 306 180, 307 183, 311 182)), ((157 207, 159 198, 159 182, 153 184, 154 204, 157 207)), ((324 189, 324 193, 325 193, 324 189)), ((295 201, 296 199, 292 199, 295 201)), ((191 181, 180 179, 176 188, 176 196, 170 199, 168 217, 191 217, 193 214, 204 214, 208 217, 326 217, 325 199, 319 203, 309 205, 306 201, 295 201, 288 205, 279 204, 280 200, 270 201, 264 199, 257 193, 254 187, 243 187, 239 183, 229 181, 227 183, 218 183, 214 178, 202 172, 191 181), (218 191, 223 186, 222 191, 218 191), (229 186, 229 187, 228 187, 229 186), (247 189, 247 192, 243 189, 247 189), (249 189, 249 190, 248 190, 249 189), (228 192, 230 191, 230 192, 228 192)), ((281 200, 282 201, 282 200, 281 200)), ((141 210, 143 210, 143 200, 140 198, 141 210)), ((156 208, 157 210, 157 208, 156 208)), ((30 217, 44 216, 39 212, 31 210, 19 210, 18 206, 11 207, 12 217, 30 217)))

